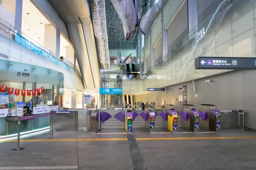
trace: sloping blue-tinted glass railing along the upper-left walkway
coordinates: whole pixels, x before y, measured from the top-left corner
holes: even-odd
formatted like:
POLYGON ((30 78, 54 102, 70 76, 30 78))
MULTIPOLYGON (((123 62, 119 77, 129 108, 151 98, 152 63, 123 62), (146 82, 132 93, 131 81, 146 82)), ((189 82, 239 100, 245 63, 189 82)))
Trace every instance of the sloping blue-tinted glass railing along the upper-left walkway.
POLYGON ((79 69, 74 67, 74 64, 68 62, 67 60, 60 60, 60 57, 56 54, 52 53, 49 49, 44 47, 43 45, 39 44, 35 40, 31 39, 29 36, 24 34, 23 32, 19 31, 17 28, 12 26, 7 21, 0 18, 0 34, 4 35, 5 37, 14 40, 15 42, 19 43, 20 45, 28 48, 29 50, 39 54, 40 56, 49 59, 51 62, 54 62, 57 65, 66 68, 68 71, 72 69, 80 72, 79 69))

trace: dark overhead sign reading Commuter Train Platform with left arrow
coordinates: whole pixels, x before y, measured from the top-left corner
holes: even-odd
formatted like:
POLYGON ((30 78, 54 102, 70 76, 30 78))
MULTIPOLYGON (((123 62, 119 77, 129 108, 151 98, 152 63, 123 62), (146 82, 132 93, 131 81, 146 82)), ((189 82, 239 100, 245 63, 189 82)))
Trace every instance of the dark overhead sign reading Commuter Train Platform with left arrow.
POLYGON ((195 59, 195 69, 255 70, 256 58, 253 58, 253 57, 198 57, 195 59))

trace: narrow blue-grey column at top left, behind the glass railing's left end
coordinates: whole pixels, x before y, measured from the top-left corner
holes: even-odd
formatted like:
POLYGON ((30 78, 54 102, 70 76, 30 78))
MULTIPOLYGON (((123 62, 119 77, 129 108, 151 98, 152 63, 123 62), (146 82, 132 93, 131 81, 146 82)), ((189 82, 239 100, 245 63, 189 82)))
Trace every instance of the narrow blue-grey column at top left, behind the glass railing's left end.
POLYGON ((15 4, 15 32, 21 35, 21 23, 22 23, 22 2, 23 0, 16 0, 15 4))

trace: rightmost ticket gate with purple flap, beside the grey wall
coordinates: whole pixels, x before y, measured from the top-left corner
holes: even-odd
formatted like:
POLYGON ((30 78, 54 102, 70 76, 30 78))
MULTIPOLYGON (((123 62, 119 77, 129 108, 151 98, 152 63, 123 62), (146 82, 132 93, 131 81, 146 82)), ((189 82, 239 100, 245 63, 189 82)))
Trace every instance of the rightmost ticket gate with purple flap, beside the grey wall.
POLYGON ((198 111, 200 118, 200 128, 204 128, 213 132, 221 131, 221 113, 217 111, 215 107, 216 105, 212 104, 201 104, 204 106, 203 109, 198 111), (206 107, 209 108, 206 108, 206 107))

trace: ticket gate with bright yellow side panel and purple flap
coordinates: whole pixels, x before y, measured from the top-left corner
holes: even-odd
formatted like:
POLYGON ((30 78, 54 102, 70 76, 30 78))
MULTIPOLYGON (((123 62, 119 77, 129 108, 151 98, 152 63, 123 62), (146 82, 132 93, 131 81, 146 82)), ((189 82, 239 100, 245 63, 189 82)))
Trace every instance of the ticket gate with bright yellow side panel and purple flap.
POLYGON ((163 127, 166 127, 172 133, 177 133, 178 114, 174 108, 175 105, 168 104, 171 106, 170 109, 163 109, 160 116, 163 118, 163 127))

